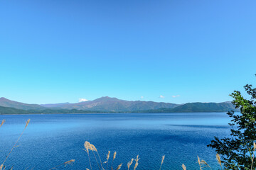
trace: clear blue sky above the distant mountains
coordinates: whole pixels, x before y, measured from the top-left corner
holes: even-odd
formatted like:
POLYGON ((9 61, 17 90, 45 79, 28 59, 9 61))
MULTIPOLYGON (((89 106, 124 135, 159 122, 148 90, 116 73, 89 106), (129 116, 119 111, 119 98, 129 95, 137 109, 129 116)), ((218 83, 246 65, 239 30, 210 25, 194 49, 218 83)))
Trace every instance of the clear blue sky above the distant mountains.
POLYGON ((234 0, 2 0, 0 97, 24 103, 101 96, 231 101, 233 90, 256 85, 255 6, 234 0))

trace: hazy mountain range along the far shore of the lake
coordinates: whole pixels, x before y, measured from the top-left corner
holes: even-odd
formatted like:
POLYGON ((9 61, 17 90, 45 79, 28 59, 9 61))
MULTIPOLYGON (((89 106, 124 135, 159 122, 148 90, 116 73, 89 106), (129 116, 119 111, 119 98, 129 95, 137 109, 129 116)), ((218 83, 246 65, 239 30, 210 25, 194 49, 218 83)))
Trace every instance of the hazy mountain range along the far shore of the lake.
POLYGON ((154 101, 124 101, 102 97, 80 103, 27 104, 0 98, 0 114, 32 113, 193 113, 238 111, 231 102, 174 104, 154 101))

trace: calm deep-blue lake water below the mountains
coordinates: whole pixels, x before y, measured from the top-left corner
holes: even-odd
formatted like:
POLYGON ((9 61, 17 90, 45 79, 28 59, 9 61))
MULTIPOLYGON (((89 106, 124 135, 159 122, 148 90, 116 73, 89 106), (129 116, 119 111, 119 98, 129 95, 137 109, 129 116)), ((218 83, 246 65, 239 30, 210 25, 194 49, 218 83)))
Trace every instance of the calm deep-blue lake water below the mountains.
POLYGON ((159 169, 164 154, 162 169, 181 169, 183 163, 188 169, 198 169, 197 155, 217 169, 215 152, 206 145, 215 135, 229 134, 230 120, 225 113, 0 115, 6 119, 0 128, 0 160, 28 118, 31 123, 6 162, 14 169, 50 169, 70 159, 75 159, 75 164, 59 169, 90 169, 82 150, 86 140, 97 147, 103 162, 108 150, 117 151, 114 166, 123 163, 122 169, 127 169, 127 162, 137 154, 141 158, 138 170, 159 169))

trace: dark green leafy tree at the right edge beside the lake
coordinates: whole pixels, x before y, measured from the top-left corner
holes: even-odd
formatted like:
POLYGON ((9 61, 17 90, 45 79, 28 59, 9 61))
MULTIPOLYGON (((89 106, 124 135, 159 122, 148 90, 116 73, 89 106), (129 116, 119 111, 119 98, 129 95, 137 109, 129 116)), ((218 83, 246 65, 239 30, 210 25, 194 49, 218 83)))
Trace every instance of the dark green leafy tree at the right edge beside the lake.
POLYGON ((227 113, 230 118, 233 118, 229 123, 230 137, 223 139, 215 137, 215 140, 208 145, 221 155, 225 169, 256 168, 256 163, 252 164, 253 142, 256 142, 256 88, 253 89, 249 84, 244 88, 250 99, 245 99, 240 91, 230 94, 234 98, 235 108, 240 108, 240 113, 234 111, 227 113))

